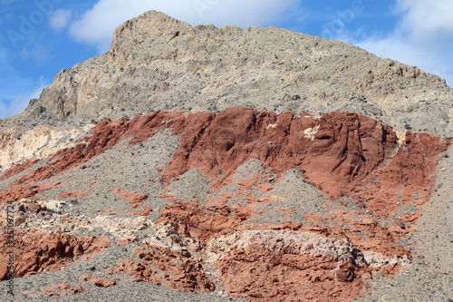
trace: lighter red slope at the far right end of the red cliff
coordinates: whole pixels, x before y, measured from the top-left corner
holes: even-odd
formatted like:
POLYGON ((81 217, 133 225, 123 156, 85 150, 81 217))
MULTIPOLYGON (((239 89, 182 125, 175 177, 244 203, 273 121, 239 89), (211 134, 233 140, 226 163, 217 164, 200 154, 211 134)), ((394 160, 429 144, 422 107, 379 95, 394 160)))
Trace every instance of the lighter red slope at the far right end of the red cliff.
MULTIPOLYGON (((395 215, 401 205, 423 205, 432 193, 436 156, 447 151, 452 142, 428 133, 406 132, 396 154, 362 180, 351 196, 382 217, 395 215)), ((419 213, 404 219, 416 222, 419 213)))

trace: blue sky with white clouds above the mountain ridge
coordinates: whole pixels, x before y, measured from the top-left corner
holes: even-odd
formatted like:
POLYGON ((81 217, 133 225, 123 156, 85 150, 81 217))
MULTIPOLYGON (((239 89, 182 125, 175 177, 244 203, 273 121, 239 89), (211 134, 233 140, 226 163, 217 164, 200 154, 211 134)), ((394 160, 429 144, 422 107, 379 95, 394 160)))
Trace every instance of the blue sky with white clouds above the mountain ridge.
POLYGON ((118 25, 152 9, 192 25, 342 40, 453 85, 451 0, 0 0, 0 118, 22 112, 61 69, 105 53, 118 25))

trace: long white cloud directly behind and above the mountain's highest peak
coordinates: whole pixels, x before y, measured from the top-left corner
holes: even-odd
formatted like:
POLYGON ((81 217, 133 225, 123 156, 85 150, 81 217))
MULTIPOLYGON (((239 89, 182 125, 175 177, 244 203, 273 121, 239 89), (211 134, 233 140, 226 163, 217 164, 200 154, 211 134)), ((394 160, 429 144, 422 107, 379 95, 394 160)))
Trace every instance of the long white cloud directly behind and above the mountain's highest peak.
POLYGON ((82 19, 71 24, 72 36, 105 52, 121 23, 148 10, 157 10, 192 25, 224 24, 247 27, 279 18, 296 0, 99 0, 82 19))

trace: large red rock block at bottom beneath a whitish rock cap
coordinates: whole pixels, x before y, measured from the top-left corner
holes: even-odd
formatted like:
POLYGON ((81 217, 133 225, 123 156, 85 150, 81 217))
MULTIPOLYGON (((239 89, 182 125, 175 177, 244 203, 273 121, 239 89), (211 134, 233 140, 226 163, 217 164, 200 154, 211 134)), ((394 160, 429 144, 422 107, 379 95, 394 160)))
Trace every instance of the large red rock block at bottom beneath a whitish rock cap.
POLYGON ((227 294, 247 301, 351 301, 368 268, 260 246, 235 248, 217 261, 227 294))

